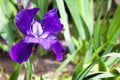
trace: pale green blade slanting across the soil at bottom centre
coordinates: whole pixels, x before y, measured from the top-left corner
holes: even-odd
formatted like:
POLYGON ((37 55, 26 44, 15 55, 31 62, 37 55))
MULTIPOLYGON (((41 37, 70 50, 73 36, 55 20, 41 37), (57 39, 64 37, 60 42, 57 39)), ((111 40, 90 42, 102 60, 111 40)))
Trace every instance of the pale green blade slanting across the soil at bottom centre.
POLYGON ((54 75, 52 76, 51 80, 54 80, 58 74, 63 70, 63 68, 75 57, 75 55, 78 53, 80 48, 78 48, 74 53, 72 53, 55 71, 54 75))

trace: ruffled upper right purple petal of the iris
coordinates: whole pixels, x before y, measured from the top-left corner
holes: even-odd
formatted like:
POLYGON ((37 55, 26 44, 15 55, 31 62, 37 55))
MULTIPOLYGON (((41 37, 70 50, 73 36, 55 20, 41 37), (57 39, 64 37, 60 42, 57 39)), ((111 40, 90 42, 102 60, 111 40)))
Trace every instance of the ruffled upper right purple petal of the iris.
POLYGON ((63 25, 57 15, 57 9, 48 11, 44 16, 41 25, 44 31, 49 31, 52 34, 58 34, 63 29, 63 25))

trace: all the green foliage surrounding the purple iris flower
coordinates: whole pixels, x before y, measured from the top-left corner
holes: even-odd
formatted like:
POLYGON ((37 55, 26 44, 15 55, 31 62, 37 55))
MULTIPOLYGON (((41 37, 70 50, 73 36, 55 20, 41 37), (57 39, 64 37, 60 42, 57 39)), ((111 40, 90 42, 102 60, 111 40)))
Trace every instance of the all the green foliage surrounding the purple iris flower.
MULTIPOLYGON (((59 73, 70 62, 76 63, 73 75, 62 78, 63 80, 119 80, 120 43, 117 41, 120 37, 120 5, 111 17, 112 0, 33 0, 33 7, 40 8, 37 14, 40 20, 50 5, 58 8, 64 25, 62 34, 69 49, 67 58, 55 71, 51 80, 57 79, 59 73), (56 5, 53 6, 53 3, 56 5), (103 15, 105 6, 106 12, 103 15)), ((17 9, 15 0, 0 0, 0 36, 7 43, 0 43, 0 48, 7 52, 21 36, 16 31, 14 23, 17 9), (17 36, 18 34, 20 36, 17 36)), ((38 49, 41 53, 46 53, 43 49, 38 49)), ((32 80, 34 76, 32 58, 24 66, 27 70, 24 80, 32 80)), ((10 80, 17 80, 22 65, 15 67, 10 80)), ((42 76, 35 79, 45 80, 42 76)))

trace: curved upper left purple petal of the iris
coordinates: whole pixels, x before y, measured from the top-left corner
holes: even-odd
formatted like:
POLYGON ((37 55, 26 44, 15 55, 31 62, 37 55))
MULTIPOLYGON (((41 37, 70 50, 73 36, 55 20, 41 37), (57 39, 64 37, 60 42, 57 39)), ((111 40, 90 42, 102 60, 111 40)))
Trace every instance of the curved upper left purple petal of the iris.
POLYGON ((31 33, 31 22, 38 11, 39 8, 23 9, 16 15, 16 25, 24 35, 31 33))

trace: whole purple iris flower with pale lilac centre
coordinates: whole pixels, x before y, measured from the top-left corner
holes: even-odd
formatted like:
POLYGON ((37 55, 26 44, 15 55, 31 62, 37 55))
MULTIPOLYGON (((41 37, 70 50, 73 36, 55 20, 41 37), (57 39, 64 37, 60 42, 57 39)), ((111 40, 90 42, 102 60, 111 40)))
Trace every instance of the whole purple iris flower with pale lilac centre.
POLYGON ((41 22, 34 18, 38 11, 39 8, 23 9, 15 17, 18 30, 25 35, 10 50, 10 57, 17 63, 28 60, 36 43, 45 50, 52 48, 58 61, 62 60, 65 53, 65 48, 56 37, 63 29, 57 9, 49 10, 41 22))

